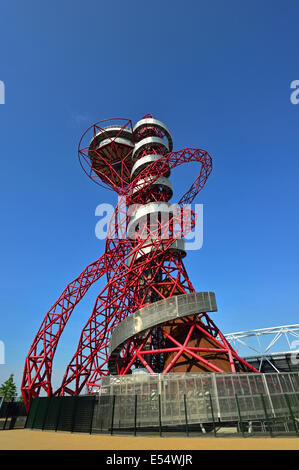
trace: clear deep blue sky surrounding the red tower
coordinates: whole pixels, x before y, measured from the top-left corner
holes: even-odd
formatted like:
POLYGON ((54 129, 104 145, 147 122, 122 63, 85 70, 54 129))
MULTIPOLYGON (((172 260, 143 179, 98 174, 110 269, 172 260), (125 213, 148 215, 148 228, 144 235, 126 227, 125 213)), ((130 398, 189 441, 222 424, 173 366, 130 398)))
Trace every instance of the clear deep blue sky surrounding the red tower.
MULTIPOLYGON (((115 198, 82 172, 77 144, 108 117, 152 113, 175 150, 212 155, 204 245, 186 267, 216 293, 221 330, 299 323, 298 24, 296 0, 2 2, 0 383, 20 384, 45 313, 103 253, 94 211, 115 198)), ((195 170, 173 173, 177 196, 195 170)), ((64 332, 56 382, 101 285, 64 332)))

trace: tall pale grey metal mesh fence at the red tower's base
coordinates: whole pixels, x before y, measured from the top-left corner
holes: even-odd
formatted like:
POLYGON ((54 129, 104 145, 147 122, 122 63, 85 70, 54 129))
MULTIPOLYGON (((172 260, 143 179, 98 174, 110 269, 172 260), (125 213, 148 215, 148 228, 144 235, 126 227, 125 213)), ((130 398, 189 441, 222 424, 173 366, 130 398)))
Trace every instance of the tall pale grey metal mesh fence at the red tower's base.
POLYGON ((93 431, 136 431, 161 426, 182 427, 186 422, 192 426, 287 418, 290 407, 299 418, 298 375, 173 373, 108 376, 103 379, 96 404, 93 431), (107 418, 109 407, 110 419, 107 418), (101 426, 96 424, 98 422, 101 426))

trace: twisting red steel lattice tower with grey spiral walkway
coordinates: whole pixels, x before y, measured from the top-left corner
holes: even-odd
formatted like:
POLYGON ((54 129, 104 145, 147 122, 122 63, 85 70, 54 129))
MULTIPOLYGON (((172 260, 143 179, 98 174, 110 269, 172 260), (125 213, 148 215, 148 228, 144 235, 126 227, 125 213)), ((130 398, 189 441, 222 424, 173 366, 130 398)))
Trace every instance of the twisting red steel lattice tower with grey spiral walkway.
POLYGON ((212 171, 201 149, 172 151, 168 128, 152 115, 132 126, 110 119, 91 126, 79 143, 84 171, 113 190, 119 203, 105 253, 72 281, 46 314, 25 362, 22 394, 28 408, 48 396, 98 389, 109 374, 257 372, 238 356, 207 312, 213 293, 196 293, 186 272, 184 236, 195 226, 190 204, 212 171), (171 170, 198 162, 199 175, 178 204, 170 204, 171 170), (101 276, 99 293, 61 386, 52 390, 52 362, 76 304, 101 276))

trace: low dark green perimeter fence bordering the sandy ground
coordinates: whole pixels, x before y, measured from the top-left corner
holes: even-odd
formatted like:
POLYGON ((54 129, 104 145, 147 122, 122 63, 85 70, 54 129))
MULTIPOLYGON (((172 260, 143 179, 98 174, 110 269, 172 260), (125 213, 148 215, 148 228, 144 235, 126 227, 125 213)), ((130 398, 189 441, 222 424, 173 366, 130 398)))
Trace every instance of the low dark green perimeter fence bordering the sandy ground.
POLYGON ((271 396, 270 400, 263 394, 250 397, 236 394, 226 399, 226 418, 217 417, 218 410, 210 394, 197 402, 186 394, 169 402, 163 402, 160 394, 42 397, 33 399, 25 427, 90 434, 299 435, 296 393, 271 396))

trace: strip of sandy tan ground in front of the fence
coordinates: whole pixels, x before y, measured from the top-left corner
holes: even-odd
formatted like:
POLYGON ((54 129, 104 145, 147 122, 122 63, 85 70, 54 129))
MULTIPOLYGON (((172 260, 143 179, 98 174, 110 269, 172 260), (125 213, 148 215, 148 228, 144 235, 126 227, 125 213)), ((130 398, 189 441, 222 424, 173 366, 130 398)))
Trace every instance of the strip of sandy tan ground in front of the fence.
POLYGON ((36 430, 0 431, 2 450, 299 450, 298 437, 130 437, 36 430))

